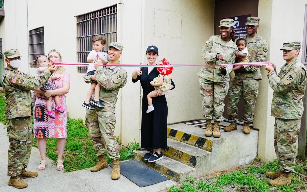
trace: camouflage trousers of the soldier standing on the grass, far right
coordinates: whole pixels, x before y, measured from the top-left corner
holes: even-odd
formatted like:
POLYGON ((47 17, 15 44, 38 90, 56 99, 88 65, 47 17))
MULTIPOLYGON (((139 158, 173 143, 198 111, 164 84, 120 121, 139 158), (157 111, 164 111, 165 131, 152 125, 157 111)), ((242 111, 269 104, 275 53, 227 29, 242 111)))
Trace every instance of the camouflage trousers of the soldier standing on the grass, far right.
POLYGON ((293 172, 301 120, 275 119, 274 148, 280 170, 293 172), (290 131, 287 131, 290 130, 290 131))

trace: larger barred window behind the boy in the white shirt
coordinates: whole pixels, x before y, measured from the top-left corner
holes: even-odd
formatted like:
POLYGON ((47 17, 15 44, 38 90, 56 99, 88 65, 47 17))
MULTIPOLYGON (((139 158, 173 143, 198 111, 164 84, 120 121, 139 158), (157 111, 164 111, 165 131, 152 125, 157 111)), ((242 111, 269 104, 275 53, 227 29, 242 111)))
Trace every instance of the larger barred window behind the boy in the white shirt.
MULTIPOLYGON (((87 63, 87 55, 93 50, 92 39, 95 36, 103 35, 107 39, 102 50, 105 53, 108 45, 117 41, 117 5, 78 15, 76 20, 78 62, 87 63)), ((87 67, 88 64, 78 66, 78 72, 86 73, 87 67)))

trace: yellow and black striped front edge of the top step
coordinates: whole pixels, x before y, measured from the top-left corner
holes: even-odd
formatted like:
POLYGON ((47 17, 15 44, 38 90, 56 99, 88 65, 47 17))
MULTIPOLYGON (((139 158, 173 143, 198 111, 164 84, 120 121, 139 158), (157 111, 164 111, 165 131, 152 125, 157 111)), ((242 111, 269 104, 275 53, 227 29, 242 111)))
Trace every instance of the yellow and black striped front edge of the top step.
POLYGON ((212 152, 212 140, 167 128, 167 137, 212 152))

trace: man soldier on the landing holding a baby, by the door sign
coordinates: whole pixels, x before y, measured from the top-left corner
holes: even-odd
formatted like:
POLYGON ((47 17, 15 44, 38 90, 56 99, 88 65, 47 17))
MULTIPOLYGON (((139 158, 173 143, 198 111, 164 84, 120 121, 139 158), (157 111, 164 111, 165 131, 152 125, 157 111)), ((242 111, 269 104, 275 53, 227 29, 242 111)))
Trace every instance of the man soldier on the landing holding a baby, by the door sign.
MULTIPOLYGON (((240 37, 247 41, 249 62, 264 62, 268 52, 266 40, 257 34, 259 20, 258 17, 248 17, 245 23, 247 34, 240 37)), ((231 124, 225 127, 224 131, 237 130, 238 105, 243 97, 243 133, 249 134, 251 132, 250 123, 254 121, 259 80, 262 79, 260 67, 260 65, 242 65, 241 69, 235 71, 235 78, 232 78, 230 82, 227 106, 228 120, 231 124)))

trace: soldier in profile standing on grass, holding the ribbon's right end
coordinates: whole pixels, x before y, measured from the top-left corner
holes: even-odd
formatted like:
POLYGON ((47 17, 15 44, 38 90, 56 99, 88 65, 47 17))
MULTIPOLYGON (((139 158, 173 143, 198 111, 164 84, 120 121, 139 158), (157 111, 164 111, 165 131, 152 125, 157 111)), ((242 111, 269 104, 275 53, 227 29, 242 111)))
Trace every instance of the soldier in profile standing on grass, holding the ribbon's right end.
POLYGON ((266 66, 269 71, 269 84, 274 90, 271 115, 275 117, 274 147, 280 170, 266 172, 269 183, 273 186, 283 186, 291 183, 291 172, 294 171, 297 137, 301 128, 301 118, 304 111, 302 98, 306 89, 306 68, 297 59, 300 52, 300 42, 286 42, 283 58, 286 64, 278 75, 275 65, 266 66))

